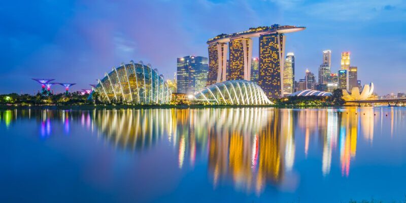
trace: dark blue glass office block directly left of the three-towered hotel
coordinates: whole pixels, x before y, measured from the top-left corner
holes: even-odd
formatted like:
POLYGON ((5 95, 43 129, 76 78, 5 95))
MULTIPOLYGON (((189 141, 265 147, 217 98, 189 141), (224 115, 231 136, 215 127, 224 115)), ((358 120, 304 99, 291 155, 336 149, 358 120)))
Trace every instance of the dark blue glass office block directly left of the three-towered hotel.
POLYGON ((177 92, 193 94, 206 86, 208 59, 201 56, 178 58, 177 92))

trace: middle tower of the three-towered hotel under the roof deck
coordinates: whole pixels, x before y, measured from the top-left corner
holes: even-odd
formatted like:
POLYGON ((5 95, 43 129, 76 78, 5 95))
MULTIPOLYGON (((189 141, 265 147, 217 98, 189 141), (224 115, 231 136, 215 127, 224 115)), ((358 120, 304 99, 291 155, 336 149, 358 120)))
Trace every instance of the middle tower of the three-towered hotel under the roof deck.
POLYGON ((250 80, 252 39, 231 39, 227 80, 250 80))

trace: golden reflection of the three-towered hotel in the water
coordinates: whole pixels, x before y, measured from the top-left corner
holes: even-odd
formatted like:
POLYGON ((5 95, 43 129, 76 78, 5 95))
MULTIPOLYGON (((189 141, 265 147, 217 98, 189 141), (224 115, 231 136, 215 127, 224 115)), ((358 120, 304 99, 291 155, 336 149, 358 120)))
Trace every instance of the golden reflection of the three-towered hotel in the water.
POLYGON ((282 181, 284 166, 287 170, 293 166, 292 114, 257 109, 245 114, 251 119, 242 122, 240 128, 209 126, 209 171, 215 186, 221 178, 230 177, 235 187, 260 193, 266 183, 282 181), (281 119, 289 122, 282 132, 281 119), (285 165, 284 158, 288 162, 285 165))

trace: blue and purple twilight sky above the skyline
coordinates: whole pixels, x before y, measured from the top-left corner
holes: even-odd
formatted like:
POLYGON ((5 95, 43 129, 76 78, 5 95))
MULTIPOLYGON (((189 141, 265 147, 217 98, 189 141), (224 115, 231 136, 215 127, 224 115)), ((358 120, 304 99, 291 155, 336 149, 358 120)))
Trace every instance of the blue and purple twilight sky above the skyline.
POLYGON ((287 34, 296 80, 307 68, 317 74, 330 49, 332 71, 350 51, 362 84, 374 82, 380 95, 406 91, 404 0, 14 0, 0 3, 0 93, 36 93, 31 78, 89 89, 130 60, 172 79, 177 57, 208 57, 209 38, 272 24, 307 27, 287 34))

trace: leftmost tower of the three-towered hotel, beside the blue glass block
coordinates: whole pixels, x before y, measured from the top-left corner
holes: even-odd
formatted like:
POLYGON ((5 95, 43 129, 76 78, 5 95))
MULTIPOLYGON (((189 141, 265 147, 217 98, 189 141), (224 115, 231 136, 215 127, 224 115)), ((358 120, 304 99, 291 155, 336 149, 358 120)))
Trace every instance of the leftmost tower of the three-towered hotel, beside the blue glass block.
POLYGON ((226 80, 228 44, 215 42, 209 44, 209 74, 206 85, 226 80))

